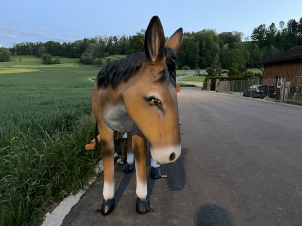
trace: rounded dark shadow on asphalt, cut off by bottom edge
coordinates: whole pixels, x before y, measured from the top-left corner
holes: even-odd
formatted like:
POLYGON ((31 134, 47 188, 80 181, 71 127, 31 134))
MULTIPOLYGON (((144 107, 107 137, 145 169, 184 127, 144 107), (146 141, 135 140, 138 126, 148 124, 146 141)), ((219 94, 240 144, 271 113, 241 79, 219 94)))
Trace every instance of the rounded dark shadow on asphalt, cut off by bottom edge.
POLYGON ((232 226, 229 213, 215 204, 202 205, 195 212, 195 225, 198 226, 232 226))

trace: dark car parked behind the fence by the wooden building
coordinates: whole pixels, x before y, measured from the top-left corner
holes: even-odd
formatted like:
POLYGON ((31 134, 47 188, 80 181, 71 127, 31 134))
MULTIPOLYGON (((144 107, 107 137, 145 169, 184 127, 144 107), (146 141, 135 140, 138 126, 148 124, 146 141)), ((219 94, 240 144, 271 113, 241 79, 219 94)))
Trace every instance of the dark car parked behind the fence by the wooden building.
POLYGON ((268 91, 268 97, 270 98, 276 98, 277 90, 274 86, 268 86, 268 85, 252 85, 250 88, 245 89, 243 91, 243 96, 251 96, 254 98, 261 98, 267 96, 268 91))

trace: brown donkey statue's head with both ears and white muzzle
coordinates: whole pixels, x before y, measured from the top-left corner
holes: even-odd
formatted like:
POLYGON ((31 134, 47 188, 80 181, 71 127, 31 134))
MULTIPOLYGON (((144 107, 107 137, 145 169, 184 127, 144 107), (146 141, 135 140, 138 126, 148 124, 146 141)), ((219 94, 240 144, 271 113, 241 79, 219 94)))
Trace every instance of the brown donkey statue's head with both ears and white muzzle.
POLYGON ((182 36, 180 28, 165 44, 160 19, 151 19, 144 40, 146 60, 123 96, 128 115, 149 141, 157 164, 174 162, 181 153, 175 63, 182 36))

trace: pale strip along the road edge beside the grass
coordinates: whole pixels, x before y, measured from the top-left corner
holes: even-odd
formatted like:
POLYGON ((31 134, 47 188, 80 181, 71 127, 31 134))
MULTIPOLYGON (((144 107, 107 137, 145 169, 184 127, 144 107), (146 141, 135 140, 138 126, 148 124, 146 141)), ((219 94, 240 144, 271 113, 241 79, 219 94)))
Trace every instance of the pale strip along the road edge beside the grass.
MULTIPOLYGON (((98 165, 94 168, 96 173, 101 173, 103 171, 103 160, 99 161, 98 165)), ((79 191, 75 195, 69 195, 64 198, 60 204, 52 210, 51 214, 46 216, 44 222, 41 226, 57 226, 61 225, 65 216, 69 213, 72 206, 78 203, 81 196, 88 190, 90 185, 96 180, 97 177, 92 178, 89 181, 89 186, 85 187, 84 190, 79 191)))

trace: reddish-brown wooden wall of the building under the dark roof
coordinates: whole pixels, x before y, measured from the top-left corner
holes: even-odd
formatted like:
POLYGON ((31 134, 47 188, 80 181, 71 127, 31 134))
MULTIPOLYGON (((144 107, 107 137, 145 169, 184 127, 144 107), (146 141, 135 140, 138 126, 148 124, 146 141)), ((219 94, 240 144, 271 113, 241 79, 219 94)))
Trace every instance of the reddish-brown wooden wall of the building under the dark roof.
POLYGON ((285 77, 289 80, 295 76, 302 76, 302 59, 286 60, 264 65, 263 79, 285 77))

